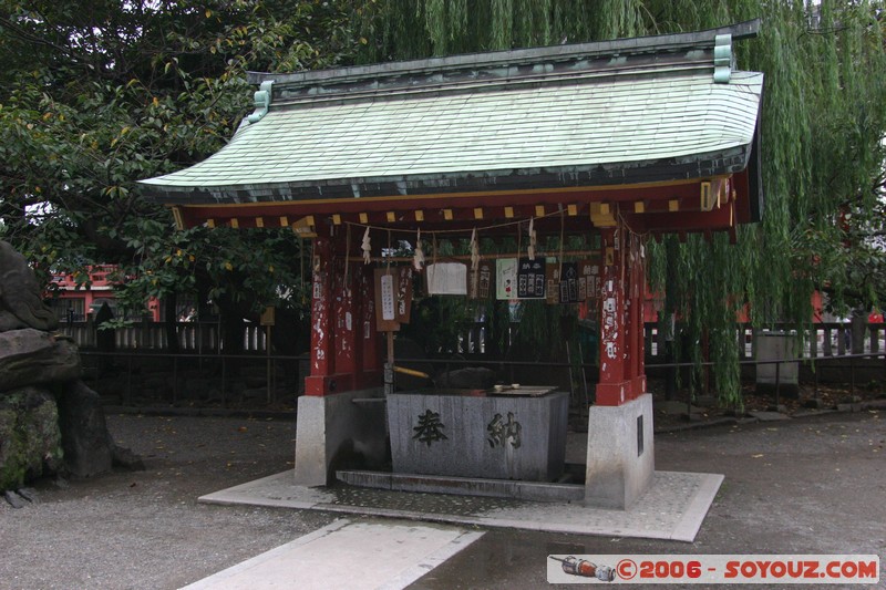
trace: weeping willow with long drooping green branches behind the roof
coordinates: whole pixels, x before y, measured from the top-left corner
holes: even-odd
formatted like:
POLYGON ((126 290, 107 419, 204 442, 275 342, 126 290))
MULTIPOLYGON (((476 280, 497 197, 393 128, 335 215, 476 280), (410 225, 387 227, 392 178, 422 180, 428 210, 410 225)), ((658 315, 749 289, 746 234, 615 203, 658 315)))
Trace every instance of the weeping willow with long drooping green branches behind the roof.
MULTIPOLYGON (((683 242, 668 236, 649 245, 650 284, 667 294, 662 315, 681 318, 686 353, 697 363, 708 343, 717 391, 738 405, 739 309, 748 304, 756 325, 791 321, 803 328, 812 319, 813 290, 831 292, 841 304, 853 287, 846 214, 865 217, 858 214, 874 210, 880 195, 882 10, 882 2, 857 0, 367 0, 354 19, 363 63, 762 19, 760 38, 744 42, 738 60, 741 69, 766 75, 763 221, 740 228, 735 245, 724 235, 683 242)), ((870 289, 862 294, 859 306, 876 299, 870 289)))

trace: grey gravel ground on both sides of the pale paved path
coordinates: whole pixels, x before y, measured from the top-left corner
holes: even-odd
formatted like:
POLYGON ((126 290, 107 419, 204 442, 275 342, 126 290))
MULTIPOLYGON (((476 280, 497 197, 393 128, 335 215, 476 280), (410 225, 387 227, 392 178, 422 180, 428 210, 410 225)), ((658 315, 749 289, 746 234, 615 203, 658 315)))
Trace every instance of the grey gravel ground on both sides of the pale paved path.
MULTIPOLYGON (((147 469, 39 482, 37 504, 0 503, 0 588, 177 588, 337 518, 196 501, 292 468, 291 421, 110 415, 109 426, 147 469)), ((571 436, 574 453, 580 438, 571 436)), ((725 475, 696 542, 492 530, 413 586, 542 588, 548 553, 875 553, 883 562, 885 455, 882 410, 658 434, 658 469, 725 475)))

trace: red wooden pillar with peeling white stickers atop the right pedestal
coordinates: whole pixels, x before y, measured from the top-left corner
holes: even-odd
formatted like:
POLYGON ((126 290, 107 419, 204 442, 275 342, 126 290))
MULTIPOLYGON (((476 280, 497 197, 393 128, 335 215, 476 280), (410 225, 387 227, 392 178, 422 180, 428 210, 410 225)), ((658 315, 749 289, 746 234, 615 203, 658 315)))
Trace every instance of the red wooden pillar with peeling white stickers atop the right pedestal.
POLYGON ((632 400, 635 382, 630 360, 636 354, 635 331, 631 318, 639 306, 629 304, 632 294, 628 289, 629 240, 624 227, 601 228, 602 292, 600 301, 600 381, 597 384, 598 405, 621 405, 632 400))

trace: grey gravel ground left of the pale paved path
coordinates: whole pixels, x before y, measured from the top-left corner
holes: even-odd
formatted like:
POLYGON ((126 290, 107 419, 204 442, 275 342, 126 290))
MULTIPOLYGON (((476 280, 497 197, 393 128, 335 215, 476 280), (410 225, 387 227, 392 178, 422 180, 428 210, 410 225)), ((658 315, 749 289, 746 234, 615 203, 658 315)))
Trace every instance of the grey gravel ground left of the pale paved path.
POLYGON ((197 504, 210 491, 292 467, 295 423, 111 415, 146 470, 59 487, 38 504, 0 501, 0 588, 178 588, 334 519, 310 511, 197 504))

